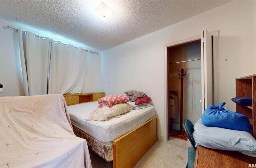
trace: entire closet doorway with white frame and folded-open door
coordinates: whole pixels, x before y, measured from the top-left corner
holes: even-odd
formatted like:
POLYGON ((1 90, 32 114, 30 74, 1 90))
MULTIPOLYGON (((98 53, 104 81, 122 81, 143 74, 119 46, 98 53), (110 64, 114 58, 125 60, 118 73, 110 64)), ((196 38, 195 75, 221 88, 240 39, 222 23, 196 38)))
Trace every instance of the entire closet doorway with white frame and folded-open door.
POLYGON ((204 113, 206 108, 211 104, 218 104, 220 102, 219 92, 218 30, 208 32, 207 29, 204 29, 201 30, 201 35, 165 44, 164 137, 159 136, 159 139, 161 140, 163 138, 164 142, 167 142, 172 130, 183 131, 183 127, 182 129, 180 129, 180 127, 181 125, 183 126, 183 121, 186 118, 195 124, 195 122, 201 118, 201 115, 204 113), (185 73, 183 78, 182 120, 180 120, 181 79, 179 78, 179 73, 181 73, 179 71, 181 71, 181 69, 183 69, 185 73), (170 96, 171 94, 173 95, 170 96), (175 108, 176 106, 178 106, 178 108, 175 108), (175 112, 171 114, 174 114, 171 119, 170 108, 175 112), (180 121, 182 121, 182 124, 180 121))

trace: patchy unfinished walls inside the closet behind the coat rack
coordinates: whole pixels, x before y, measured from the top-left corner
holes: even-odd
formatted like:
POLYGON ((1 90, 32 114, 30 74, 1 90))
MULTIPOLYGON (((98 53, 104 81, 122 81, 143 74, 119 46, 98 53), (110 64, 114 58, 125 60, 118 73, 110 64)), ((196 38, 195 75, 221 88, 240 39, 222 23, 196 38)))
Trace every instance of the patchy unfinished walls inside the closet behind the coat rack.
MULTIPOLYGON (((168 48, 169 63, 201 58, 201 41, 168 48)), ((169 64, 169 90, 178 91, 180 111, 181 69, 187 70, 183 79, 183 121, 189 119, 193 124, 201 118, 201 60, 169 64)), ((170 123, 171 124, 171 123, 170 123)), ((173 129, 180 130, 180 114, 173 119, 173 129)))

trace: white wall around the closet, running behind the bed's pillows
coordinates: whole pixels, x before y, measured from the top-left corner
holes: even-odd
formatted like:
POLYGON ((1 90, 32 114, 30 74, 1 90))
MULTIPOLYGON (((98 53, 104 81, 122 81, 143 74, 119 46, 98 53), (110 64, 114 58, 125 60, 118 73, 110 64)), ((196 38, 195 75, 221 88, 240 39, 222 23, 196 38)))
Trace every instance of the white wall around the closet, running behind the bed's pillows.
MULTIPOLYGON (((219 30, 220 102, 235 104, 235 78, 255 73, 253 1, 231 1, 167 28, 102 52, 101 90, 105 95, 139 90, 151 97, 163 140, 164 45, 219 30), (227 59, 227 61, 226 61, 227 59)), ((255 5, 254 5, 255 6, 255 5)))

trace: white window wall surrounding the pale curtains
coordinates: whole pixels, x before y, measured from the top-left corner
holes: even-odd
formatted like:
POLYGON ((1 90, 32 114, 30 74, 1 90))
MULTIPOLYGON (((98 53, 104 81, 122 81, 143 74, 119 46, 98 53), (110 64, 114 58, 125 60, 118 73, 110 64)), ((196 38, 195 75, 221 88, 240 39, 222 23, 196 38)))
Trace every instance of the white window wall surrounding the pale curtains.
MULTIPOLYGON (((91 49, 83 44, 76 44, 73 41, 53 35, 50 32, 42 32, 36 29, 31 29, 25 26, 0 20, 0 83, 3 84, 3 93, 0 96, 24 96, 23 80, 20 66, 20 51, 19 51, 19 32, 16 33, 13 29, 8 29, 7 26, 13 28, 22 28, 23 31, 30 31, 37 35, 53 38, 61 41, 64 44, 72 44, 76 47, 82 47, 89 51, 99 52, 99 55, 91 54, 88 67, 86 82, 83 88, 85 92, 101 91, 100 73, 101 73, 101 51, 91 49)), ((68 32, 67 32, 68 33, 68 32)))

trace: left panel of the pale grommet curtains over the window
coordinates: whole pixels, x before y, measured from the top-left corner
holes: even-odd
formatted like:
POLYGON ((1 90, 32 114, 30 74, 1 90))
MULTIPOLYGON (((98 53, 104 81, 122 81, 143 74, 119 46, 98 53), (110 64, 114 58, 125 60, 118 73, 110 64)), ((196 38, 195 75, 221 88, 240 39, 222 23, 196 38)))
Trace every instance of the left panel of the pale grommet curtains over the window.
POLYGON ((20 60, 25 95, 47 94, 52 39, 34 37, 20 28, 20 60))

